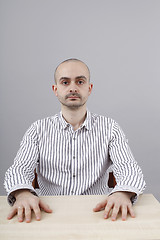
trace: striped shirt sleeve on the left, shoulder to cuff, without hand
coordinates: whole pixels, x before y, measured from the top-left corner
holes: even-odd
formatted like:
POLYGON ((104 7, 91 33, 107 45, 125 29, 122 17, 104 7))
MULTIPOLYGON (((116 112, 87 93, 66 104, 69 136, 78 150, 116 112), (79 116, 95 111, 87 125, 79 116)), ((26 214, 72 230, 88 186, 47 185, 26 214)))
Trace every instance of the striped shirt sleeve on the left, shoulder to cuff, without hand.
POLYGON ((29 189, 36 194, 32 186, 35 177, 34 170, 39 158, 36 124, 26 131, 13 165, 7 170, 4 187, 7 191, 8 202, 13 205, 15 198, 12 193, 18 189, 29 189))

